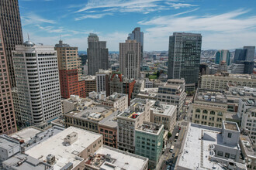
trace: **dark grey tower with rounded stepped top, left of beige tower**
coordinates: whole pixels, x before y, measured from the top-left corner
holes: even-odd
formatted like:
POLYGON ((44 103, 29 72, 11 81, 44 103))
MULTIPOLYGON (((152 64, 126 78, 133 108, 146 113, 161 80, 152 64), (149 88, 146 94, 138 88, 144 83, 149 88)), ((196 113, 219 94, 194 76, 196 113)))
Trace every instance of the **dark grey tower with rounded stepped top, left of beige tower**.
POLYGON ((100 69, 109 69, 109 49, 106 48, 106 41, 99 41, 96 34, 88 36, 88 74, 95 75, 100 69))

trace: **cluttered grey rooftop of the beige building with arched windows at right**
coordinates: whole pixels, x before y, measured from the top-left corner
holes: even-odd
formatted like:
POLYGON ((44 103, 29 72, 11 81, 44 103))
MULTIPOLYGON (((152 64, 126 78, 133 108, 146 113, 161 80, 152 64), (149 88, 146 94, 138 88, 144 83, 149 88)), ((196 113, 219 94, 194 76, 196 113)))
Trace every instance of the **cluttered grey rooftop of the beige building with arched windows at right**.
POLYGON ((227 104, 226 95, 216 90, 199 89, 195 94, 195 100, 227 104))

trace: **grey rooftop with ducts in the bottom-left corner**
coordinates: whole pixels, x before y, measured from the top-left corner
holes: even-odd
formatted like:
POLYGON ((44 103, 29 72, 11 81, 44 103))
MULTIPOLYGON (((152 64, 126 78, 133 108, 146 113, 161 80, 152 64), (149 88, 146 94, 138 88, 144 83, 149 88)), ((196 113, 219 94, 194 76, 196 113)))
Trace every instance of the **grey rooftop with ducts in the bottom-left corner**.
POLYGON ((29 155, 24 154, 18 154, 14 155, 12 158, 9 158, 5 160, 5 162, 2 162, 4 167, 8 166, 12 169, 17 170, 49 170, 54 169, 50 165, 48 165, 45 162, 41 162, 36 158, 33 158, 29 155), (19 163, 20 162, 20 163, 19 163))

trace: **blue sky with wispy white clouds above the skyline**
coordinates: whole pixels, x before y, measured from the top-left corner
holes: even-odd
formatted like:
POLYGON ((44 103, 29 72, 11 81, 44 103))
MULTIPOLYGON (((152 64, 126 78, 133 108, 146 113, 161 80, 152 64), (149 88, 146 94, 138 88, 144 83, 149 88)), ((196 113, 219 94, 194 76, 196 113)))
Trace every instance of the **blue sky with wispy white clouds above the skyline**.
POLYGON ((140 27, 144 50, 168 50, 172 32, 202 34, 202 49, 256 45, 255 0, 19 0, 24 39, 87 49, 89 32, 119 50, 140 27))

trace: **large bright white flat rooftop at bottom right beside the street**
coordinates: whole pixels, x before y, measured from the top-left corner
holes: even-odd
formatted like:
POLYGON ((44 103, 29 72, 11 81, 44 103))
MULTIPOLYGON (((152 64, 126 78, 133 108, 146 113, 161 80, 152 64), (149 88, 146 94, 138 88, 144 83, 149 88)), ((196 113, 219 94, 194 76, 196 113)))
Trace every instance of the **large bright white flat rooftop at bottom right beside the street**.
POLYGON ((176 166, 189 169, 223 169, 220 164, 209 160, 209 145, 222 145, 228 148, 239 146, 224 144, 220 132, 220 128, 190 123, 176 166))

